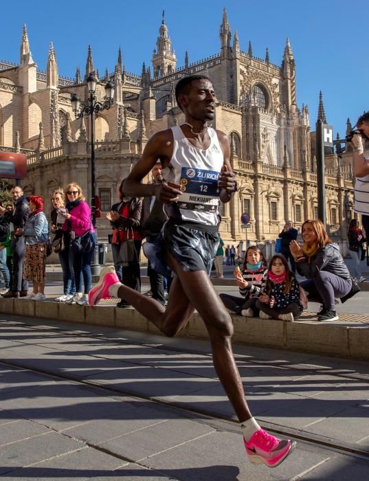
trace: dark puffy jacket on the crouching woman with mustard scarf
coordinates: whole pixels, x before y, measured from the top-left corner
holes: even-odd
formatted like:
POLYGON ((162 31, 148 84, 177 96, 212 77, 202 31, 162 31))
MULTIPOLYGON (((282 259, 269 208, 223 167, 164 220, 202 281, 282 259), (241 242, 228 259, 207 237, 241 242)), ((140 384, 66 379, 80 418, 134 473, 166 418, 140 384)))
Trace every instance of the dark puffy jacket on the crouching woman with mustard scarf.
POLYGON ((327 271, 342 279, 350 279, 350 272, 335 243, 329 243, 317 249, 310 258, 304 256, 303 260, 296 263, 298 273, 306 279, 313 279, 319 271, 327 271))

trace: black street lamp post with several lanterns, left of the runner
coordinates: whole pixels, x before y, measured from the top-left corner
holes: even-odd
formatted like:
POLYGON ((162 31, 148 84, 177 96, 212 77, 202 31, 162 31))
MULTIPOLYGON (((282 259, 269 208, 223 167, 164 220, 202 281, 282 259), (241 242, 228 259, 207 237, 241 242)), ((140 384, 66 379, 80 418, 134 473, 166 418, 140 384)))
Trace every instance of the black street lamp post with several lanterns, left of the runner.
MULTIPOLYGON (((76 119, 82 117, 91 118, 91 222, 96 230, 96 171, 95 171, 95 115, 101 110, 110 109, 113 104, 114 87, 111 82, 107 82, 105 85, 105 100, 104 102, 98 102, 96 98, 96 84, 98 79, 89 74, 87 77, 87 88, 89 90, 89 96, 85 102, 81 102, 76 93, 71 94, 71 107, 76 115, 76 119)), ((96 246, 93 264, 91 265, 93 274, 98 274, 98 247, 96 246)))

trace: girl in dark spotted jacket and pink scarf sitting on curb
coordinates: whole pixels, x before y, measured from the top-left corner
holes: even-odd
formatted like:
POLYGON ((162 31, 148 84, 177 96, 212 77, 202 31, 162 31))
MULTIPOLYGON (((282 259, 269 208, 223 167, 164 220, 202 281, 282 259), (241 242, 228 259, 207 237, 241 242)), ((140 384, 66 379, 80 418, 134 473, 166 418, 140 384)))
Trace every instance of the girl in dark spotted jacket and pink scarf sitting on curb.
POLYGON ((256 307, 261 319, 273 317, 291 322, 300 317, 303 311, 300 287, 284 256, 276 254, 271 258, 264 293, 256 307))

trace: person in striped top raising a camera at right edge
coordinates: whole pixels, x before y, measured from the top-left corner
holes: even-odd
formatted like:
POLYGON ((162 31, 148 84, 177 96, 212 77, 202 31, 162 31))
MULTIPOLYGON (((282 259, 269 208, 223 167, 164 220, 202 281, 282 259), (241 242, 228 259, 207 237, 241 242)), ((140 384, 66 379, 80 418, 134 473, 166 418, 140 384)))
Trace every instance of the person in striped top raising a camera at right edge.
POLYGON ((356 123, 357 128, 346 137, 353 147, 353 174, 355 183, 354 210, 361 214, 366 238, 369 236, 369 159, 364 157, 364 142, 369 140, 369 112, 361 115, 356 123))

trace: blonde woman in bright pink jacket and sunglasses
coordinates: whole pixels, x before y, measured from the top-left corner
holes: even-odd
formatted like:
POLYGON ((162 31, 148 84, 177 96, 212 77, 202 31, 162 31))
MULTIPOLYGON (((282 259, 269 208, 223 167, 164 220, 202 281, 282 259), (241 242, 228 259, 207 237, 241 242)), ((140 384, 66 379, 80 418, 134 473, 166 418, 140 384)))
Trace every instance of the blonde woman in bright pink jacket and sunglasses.
POLYGON ((69 183, 65 189, 65 207, 67 210, 62 213, 65 217, 62 229, 68 231, 71 236, 69 252, 72 256, 74 280, 76 282, 76 294, 66 302, 88 304, 88 293, 91 289, 91 260, 97 236, 91 221, 91 208, 85 201, 82 189, 77 183, 69 183), (91 236, 91 247, 85 252, 76 253, 72 245, 73 240, 84 235, 91 236), (82 278, 84 291, 82 291, 82 278))

